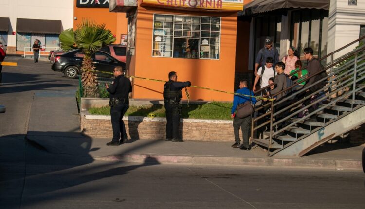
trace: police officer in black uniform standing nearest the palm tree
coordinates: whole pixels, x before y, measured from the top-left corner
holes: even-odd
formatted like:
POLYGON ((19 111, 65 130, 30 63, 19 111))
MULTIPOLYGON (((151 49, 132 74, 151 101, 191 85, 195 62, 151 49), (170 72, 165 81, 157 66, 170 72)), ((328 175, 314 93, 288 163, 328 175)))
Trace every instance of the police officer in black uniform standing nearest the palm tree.
POLYGON ((118 146, 127 142, 126 126, 122 119, 129 108, 128 94, 132 92, 132 84, 124 76, 122 66, 114 68, 114 76, 115 78, 111 82, 110 87, 108 84, 105 84, 107 91, 110 93, 109 105, 111 126, 113 127, 113 139, 107 143, 108 146, 118 146))

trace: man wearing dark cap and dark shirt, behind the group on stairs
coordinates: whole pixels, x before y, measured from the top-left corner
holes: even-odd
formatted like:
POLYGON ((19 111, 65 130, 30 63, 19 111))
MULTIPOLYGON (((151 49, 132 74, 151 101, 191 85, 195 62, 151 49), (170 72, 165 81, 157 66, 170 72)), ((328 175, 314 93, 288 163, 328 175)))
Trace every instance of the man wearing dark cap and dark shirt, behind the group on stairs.
POLYGON ((266 37, 265 39, 265 47, 260 49, 257 53, 256 63, 255 63, 255 76, 257 75, 257 69, 259 66, 264 66, 266 62, 266 58, 273 57, 274 62, 273 66, 279 62, 279 52, 273 46, 273 40, 270 37, 266 37))

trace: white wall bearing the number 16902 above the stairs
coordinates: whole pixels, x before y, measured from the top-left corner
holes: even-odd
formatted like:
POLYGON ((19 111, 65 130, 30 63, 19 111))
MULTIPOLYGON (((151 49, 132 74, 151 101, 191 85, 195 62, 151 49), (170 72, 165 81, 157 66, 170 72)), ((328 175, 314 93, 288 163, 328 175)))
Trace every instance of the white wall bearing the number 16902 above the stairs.
MULTIPOLYGON (((328 50, 333 52, 359 38, 360 25, 365 23, 365 1, 348 5, 348 0, 331 0, 329 8, 328 50)), ((336 53, 334 58, 352 51, 358 43, 336 53)))

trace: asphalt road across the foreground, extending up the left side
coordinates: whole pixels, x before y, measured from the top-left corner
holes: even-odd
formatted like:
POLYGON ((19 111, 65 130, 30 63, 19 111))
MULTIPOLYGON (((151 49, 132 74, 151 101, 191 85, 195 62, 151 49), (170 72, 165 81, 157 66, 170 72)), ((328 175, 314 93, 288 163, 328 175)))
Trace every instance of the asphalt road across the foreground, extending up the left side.
POLYGON ((34 95, 75 90, 77 80, 46 62, 7 61, 18 68, 4 67, 0 87, 7 106, 0 114, 1 209, 365 208, 361 170, 131 164, 49 153, 24 139, 34 95))

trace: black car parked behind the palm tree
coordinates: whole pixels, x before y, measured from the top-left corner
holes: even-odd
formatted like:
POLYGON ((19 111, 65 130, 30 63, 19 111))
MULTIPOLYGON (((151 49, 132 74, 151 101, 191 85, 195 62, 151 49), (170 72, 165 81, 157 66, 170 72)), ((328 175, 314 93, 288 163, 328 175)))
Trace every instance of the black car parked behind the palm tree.
MULTIPOLYGON (((57 72, 63 72, 67 78, 76 78, 81 72, 82 60, 84 53, 81 50, 74 50, 55 56, 55 62, 52 64, 52 70, 57 72)), ((105 52, 97 51, 92 55, 92 61, 95 65, 95 70, 112 73, 116 66, 126 67, 125 62, 112 57, 105 52)), ((112 74, 95 72, 99 77, 112 77, 112 74)))

